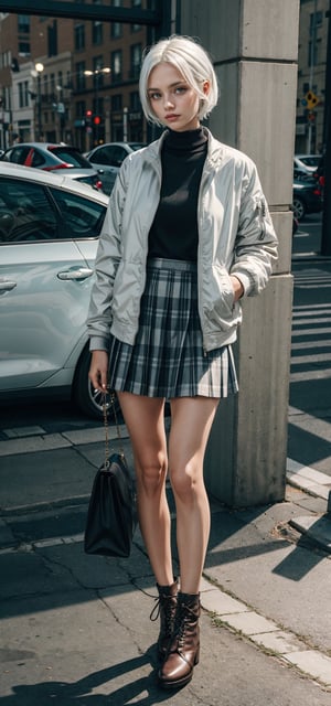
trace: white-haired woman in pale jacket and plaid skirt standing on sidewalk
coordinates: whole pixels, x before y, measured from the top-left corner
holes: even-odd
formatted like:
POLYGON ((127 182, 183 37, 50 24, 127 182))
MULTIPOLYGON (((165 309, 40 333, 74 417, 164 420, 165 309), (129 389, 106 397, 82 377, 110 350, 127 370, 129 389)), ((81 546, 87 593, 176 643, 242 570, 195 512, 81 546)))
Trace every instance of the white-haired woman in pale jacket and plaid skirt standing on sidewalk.
POLYGON ((277 238, 252 160, 201 127, 217 101, 206 52, 190 38, 160 41, 145 55, 139 88, 147 119, 167 130, 125 160, 110 196, 88 315, 89 377, 97 391, 116 389, 130 435, 139 523, 159 591, 158 676, 175 688, 199 661, 210 534, 204 452, 220 399, 237 392, 239 299, 264 289, 277 238))

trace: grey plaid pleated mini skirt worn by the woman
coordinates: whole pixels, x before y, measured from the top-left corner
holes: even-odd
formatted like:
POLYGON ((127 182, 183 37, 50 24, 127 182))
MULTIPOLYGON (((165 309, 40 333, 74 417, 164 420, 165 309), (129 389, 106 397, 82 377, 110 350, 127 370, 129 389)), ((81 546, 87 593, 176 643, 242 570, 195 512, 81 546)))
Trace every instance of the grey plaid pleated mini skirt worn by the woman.
POLYGON ((203 350, 194 263, 148 260, 135 344, 110 338, 109 386, 167 399, 238 391, 231 345, 203 350))

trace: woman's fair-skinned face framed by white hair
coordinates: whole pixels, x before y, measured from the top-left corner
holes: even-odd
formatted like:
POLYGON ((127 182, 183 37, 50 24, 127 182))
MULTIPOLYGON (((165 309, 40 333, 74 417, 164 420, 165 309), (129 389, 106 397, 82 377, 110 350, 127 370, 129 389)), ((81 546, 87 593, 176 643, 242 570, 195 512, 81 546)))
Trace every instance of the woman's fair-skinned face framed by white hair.
MULTIPOLYGON (((207 82, 203 89, 207 90, 207 82)), ((164 62, 151 71, 147 93, 150 106, 162 125, 178 132, 200 126, 199 96, 172 64, 164 62)))

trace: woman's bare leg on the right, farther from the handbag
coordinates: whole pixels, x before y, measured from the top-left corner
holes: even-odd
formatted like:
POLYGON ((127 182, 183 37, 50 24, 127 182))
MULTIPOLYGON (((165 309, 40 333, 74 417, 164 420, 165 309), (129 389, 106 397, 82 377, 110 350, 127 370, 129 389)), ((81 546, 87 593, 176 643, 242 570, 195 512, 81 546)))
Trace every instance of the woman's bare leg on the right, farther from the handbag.
POLYGON ((169 474, 177 507, 181 591, 197 593, 210 536, 210 504, 203 480, 204 452, 218 405, 210 397, 171 400, 169 474))

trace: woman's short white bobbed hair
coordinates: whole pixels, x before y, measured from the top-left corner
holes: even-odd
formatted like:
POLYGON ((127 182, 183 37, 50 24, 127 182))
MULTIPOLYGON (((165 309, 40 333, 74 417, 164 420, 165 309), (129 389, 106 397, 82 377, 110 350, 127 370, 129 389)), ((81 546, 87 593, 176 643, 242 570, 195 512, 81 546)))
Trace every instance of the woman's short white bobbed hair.
POLYGON ((142 110, 147 120, 160 125, 160 120, 154 115, 149 96, 148 81, 152 69, 161 63, 169 63, 174 66, 193 88, 200 98, 199 118, 205 118, 218 99, 217 78, 213 64, 206 51, 191 36, 173 34, 169 39, 160 40, 151 47, 147 47, 143 54, 142 66, 139 78, 139 94, 142 110), (203 93, 203 84, 207 81, 210 90, 207 95, 203 93))

